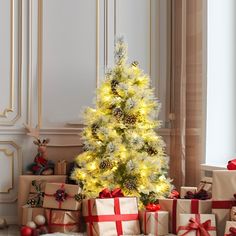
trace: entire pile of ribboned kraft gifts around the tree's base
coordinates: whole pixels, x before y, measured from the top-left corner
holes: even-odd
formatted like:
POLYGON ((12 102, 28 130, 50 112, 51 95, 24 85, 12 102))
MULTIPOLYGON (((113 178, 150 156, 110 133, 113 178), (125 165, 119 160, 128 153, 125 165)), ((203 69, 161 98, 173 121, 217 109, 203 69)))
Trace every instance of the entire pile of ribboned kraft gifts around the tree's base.
POLYGON ((20 177, 19 221, 27 225, 37 215, 46 218, 49 232, 113 235, 236 235, 236 171, 216 170, 198 188, 182 187, 159 204, 138 209, 135 197, 120 189, 103 189, 85 199, 66 175, 20 177))

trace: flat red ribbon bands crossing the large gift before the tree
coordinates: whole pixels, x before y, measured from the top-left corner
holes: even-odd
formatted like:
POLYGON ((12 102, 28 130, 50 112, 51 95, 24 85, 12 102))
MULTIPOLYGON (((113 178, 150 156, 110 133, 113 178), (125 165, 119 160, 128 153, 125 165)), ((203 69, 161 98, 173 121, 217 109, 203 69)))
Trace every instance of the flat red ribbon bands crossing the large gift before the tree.
POLYGON ((94 222, 116 222, 117 235, 123 234, 122 221, 138 220, 138 214, 121 214, 119 198, 114 198, 114 215, 92 215, 91 199, 88 199, 88 216, 85 221, 89 223, 89 235, 93 236, 93 223, 94 222))

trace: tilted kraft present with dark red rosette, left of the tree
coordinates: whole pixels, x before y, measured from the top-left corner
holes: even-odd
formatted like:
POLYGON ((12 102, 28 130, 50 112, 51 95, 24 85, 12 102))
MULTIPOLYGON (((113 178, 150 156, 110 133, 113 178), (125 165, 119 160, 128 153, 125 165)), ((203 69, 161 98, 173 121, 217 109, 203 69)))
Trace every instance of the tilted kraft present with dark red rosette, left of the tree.
POLYGON ((43 207, 65 210, 80 210, 83 195, 79 185, 47 183, 43 207))

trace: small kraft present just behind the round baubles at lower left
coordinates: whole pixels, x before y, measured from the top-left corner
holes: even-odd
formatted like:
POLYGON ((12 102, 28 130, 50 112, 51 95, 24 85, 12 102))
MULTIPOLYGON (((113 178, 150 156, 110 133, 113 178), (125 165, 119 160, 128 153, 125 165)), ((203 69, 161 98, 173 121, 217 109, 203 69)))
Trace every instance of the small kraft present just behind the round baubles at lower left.
POLYGON ((21 225, 26 225, 29 221, 33 221, 37 215, 44 215, 44 208, 30 207, 29 205, 22 206, 21 225))

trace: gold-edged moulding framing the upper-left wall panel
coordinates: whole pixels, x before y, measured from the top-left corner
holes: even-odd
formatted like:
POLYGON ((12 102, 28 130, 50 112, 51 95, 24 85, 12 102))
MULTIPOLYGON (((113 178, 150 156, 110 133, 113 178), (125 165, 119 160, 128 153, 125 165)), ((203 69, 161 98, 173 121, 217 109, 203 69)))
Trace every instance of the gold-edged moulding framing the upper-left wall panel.
MULTIPOLYGON (((21 117, 21 83, 22 83, 22 0, 19 0, 18 8, 18 107, 17 114, 11 120, 5 120, 0 122, 0 126, 12 126, 16 121, 21 117)), ((10 2, 10 94, 9 94, 9 107, 5 108, 3 112, 0 112, 0 118, 8 118, 8 113, 14 112, 14 102, 15 102, 15 47, 14 47, 14 38, 15 38, 15 0, 10 2)))

